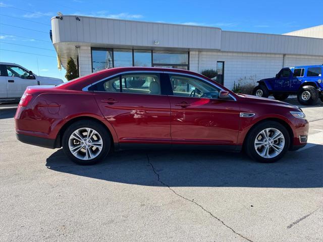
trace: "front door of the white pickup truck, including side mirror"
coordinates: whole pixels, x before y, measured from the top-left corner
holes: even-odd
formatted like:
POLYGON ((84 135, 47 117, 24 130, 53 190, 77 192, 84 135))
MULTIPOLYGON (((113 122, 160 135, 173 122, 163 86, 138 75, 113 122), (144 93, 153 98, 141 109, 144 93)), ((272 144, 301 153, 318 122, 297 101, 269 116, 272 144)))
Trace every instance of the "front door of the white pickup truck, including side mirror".
POLYGON ((37 85, 35 77, 21 67, 6 65, 6 72, 8 98, 20 98, 28 86, 37 85))

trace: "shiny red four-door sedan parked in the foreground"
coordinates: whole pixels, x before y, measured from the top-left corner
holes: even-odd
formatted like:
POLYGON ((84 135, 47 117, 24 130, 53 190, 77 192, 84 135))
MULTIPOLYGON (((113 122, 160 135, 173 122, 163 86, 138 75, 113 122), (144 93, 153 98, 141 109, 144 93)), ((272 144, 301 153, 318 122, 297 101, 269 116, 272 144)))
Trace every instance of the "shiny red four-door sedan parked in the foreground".
POLYGON ((79 164, 139 148, 241 151, 260 162, 306 145, 297 106, 235 94, 200 74, 113 68, 58 86, 28 87, 15 115, 21 142, 63 149, 79 164))

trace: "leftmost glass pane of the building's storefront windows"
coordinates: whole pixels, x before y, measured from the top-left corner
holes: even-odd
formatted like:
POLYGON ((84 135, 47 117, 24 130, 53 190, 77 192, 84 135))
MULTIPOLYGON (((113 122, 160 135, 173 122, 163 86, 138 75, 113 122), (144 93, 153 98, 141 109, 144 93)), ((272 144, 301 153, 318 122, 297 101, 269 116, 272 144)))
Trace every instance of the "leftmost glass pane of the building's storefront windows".
POLYGON ((92 49, 92 72, 112 68, 112 50, 111 49, 92 49))

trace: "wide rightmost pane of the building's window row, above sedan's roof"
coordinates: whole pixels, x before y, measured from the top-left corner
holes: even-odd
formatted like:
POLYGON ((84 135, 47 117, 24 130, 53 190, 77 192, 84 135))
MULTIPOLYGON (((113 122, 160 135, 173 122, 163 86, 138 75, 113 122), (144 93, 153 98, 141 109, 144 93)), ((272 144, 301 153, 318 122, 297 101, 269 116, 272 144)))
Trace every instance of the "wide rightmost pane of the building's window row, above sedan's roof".
POLYGON ((182 51, 153 51, 153 64, 188 65, 188 52, 182 51))

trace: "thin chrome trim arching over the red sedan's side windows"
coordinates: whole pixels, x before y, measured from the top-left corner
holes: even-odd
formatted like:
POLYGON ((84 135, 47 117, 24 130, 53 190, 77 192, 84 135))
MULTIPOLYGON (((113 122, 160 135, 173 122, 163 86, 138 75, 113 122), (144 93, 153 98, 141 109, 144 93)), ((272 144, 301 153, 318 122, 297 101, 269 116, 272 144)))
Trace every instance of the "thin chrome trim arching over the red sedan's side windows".
MULTIPOLYGON (((211 84, 211 85, 213 85, 213 86, 216 86, 216 87, 217 87, 217 88, 219 88, 221 91, 224 91, 224 89, 223 89, 223 88, 221 88, 221 87, 219 87, 217 84, 214 84, 214 83, 212 83, 212 82, 210 82, 210 81, 208 81, 208 80, 206 80, 206 79, 204 79, 204 78, 201 78, 201 77, 198 77, 198 76, 195 76, 195 75, 192 75, 192 74, 180 73, 180 72, 172 72, 172 71, 126 71, 126 72, 120 72, 120 73, 114 74, 114 75, 112 75, 112 76, 109 76, 109 77, 103 78, 103 79, 101 79, 101 80, 98 80, 98 81, 96 81, 96 82, 94 82, 94 83, 92 83, 92 84, 90 84, 90 85, 87 85, 86 87, 83 87, 83 88, 82 88, 82 91, 83 91, 83 92, 90 92, 90 91, 88 90, 88 88, 89 88, 89 87, 91 87, 92 85, 95 85, 95 84, 97 84, 97 83, 99 83, 99 82, 102 82, 102 81, 104 81, 104 80, 107 80, 107 79, 111 79, 111 78, 113 78, 113 77, 115 77, 115 76, 124 75, 124 74, 129 74, 129 73, 166 73, 166 74, 183 75, 183 76, 193 77, 193 78, 196 78, 196 79, 202 80, 202 81, 204 81, 204 82, 207 82, 208 84, 211 84)), ((104 91, 93 91, 93 92, 104 92, 104 91)), ((122 93, 122 92, 120 92, 120 93, 122 93)), ((235 96, 233 96, 231 93, 229 94, 229 96, 230 96, 230 97, 232 97, 234 101, 237 101, 236 97, 235 97, 235 96)))

